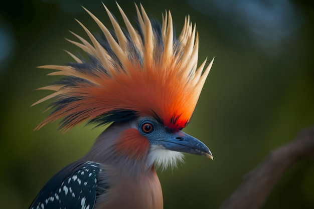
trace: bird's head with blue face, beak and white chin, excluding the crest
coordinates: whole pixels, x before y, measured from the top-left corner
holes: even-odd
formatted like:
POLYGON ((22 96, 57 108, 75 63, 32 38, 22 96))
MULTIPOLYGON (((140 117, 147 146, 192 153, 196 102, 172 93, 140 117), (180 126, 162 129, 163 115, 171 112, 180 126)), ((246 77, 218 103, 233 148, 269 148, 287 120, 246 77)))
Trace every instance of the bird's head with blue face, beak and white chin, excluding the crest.
POLYGON ((130 165, 126 167, 128 170, 149 170, 154 164, 163 168, 175 167, 183 160, 182 152, 213 158, 200 140, 181 130, 173 131, 154 117, 147 116, 110 125, 89 153, 103 153, 103 150, 107 155, 100 154, 97 159, 109 158, 115 164, 122 162, 123 166, 130 165))

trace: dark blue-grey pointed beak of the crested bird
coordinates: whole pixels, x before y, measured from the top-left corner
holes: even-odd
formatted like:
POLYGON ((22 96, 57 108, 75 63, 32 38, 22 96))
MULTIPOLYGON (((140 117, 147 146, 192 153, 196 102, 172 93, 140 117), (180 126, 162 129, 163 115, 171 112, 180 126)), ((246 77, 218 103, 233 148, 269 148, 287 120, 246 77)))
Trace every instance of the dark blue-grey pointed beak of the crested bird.
POLYGON ((203 142, 183 131, 175 132, 171 137, 160 139, 159 141, 166 149, 201 155, 213 159, 211 151, 203 142))

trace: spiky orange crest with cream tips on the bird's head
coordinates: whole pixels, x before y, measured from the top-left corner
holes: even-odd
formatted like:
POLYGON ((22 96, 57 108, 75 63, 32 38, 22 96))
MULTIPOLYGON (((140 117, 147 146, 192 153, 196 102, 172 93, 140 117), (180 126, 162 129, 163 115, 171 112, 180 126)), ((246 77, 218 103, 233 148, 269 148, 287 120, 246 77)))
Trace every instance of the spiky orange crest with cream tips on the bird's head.
POLYGON ((58 70, 48 75, 65 77, 40 88, 55 93, 33 105, 55 100, 48 108, 52 113, 37 129, 59 118, 64 131, 85 120, 105 124, 135 116, 153 116, 173 130, 188 124, 213 61, 203 74, 206 60, 197 68, 199 37, 189 17, 177 39, 170 11, 161 26, 141 5, 135 7, 137 29, 118 5, 124 30, 104 6, 114 33, 84 8, 103 34, 95 37, 77 21, 91 43, 73 32, 80 43, 68 41, 85 51, 89 60, 68 52, 75 63, 40 67, 58 70))

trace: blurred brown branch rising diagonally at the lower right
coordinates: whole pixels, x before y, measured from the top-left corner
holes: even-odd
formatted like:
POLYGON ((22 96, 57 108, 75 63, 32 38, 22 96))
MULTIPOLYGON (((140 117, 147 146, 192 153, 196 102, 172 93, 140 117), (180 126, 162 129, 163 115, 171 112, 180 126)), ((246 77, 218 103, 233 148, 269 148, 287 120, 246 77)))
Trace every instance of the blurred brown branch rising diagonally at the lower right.
POLYGON ((244 176, 220 209, 257 209, 266 200, 282 174, 297 161, 314 156, 314 126, 302 130, 295 140, 269 153, 265 160, 244 176))

